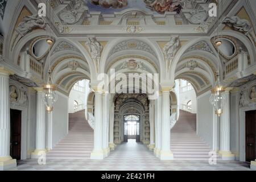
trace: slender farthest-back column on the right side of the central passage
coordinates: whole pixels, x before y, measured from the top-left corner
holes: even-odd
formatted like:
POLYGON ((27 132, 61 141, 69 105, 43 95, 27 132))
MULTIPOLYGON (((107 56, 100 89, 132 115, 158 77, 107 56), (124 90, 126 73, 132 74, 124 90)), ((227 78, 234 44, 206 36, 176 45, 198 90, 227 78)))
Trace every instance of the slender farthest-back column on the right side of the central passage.
POLYGON ((148 145, 148 148, 150 150, 153 150, 155 148, 155 140, 154 140, 154 100, 150 100, 149 104, 149 119, 150 119, 150 144, 148 145))

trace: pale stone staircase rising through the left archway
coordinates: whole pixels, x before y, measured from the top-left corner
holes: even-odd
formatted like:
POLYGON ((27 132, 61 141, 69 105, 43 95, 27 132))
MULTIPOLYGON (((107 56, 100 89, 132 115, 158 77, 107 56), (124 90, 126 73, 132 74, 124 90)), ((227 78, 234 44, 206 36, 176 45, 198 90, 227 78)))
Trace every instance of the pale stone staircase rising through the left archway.
POLYGON ((90 159, 93 129, 85 119, 85 110, 69 114, 69 133, 47 152, 47 159, 90 159))

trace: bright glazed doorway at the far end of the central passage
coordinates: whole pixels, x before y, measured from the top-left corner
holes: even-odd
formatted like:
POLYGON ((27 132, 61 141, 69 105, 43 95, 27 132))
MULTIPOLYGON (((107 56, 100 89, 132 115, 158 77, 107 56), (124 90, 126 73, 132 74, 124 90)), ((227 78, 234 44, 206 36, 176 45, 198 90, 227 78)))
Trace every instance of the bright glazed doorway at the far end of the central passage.
POLYGON ((125 115, 123 117, 124 121, 124 131, 123 131, 123 142, 128 142, 129 139, 135 139, 136 142, 140 142, 139 137, 139 115, 125 115))

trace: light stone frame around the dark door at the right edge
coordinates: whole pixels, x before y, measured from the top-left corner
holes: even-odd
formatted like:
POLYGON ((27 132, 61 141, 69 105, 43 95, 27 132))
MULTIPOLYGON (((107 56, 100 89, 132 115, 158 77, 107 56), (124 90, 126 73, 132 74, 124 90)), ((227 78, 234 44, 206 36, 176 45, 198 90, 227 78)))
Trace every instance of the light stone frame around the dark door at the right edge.
POLYGON ((241 107, 239 109, 239 114, 240 114, 240 130, 239 130, 239 135, 240 135, 240 139, 239 139, 239 160, 242 162, 246 161, 245 158, 245 112, 246 111, 250 111, 250 110, 256 110, 256 104, 255 105, 251 105, 251 106, 247 106, 247 107, 241 107))

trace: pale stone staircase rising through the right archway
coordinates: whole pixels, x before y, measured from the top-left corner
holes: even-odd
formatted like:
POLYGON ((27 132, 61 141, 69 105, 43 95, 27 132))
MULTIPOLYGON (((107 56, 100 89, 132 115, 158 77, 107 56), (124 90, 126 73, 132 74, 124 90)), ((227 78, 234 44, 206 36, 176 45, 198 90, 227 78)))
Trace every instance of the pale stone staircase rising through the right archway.
POLYGON ((174 160, 208 160, 211 151, 196 134, 196 114, 180 110, 179 120, 171 129, 171 151, 174 160))

